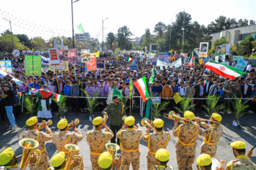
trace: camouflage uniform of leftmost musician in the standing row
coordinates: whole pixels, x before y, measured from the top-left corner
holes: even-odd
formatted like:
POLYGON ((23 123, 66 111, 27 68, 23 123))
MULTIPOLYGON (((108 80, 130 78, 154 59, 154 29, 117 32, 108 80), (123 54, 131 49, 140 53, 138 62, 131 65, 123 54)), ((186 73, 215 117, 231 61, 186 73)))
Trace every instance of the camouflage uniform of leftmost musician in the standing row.
POLYGON ((38 169, 38 170, 46 170, 50 167, 50 161, 48 158, 48 152, 46 151, 46 145, 45 142, 48 140, 51 140, 53 137, 53 132, 40 132, 38 130, 26 130, 25 132, 21 133, 22 138, 30 138, 33 140, 37 140, 39 142, 39 145, 36 149, 41 150, 41 159, 39 162, 39 166, 37 166, 37 163, 30 164, 30 169, 38 169))

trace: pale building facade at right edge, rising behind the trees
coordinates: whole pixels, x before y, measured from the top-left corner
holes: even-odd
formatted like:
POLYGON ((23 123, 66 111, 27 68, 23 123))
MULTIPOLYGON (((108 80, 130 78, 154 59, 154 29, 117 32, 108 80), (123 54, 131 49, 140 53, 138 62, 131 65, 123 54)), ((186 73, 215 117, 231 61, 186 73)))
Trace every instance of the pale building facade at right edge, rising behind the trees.
POLYGON ((220 33, 213 33, 212 40, 216 40, 218 38, 225 38, 228 40, 229 45, 238 45, 242 40, 245 40, 248 36, 252 35, 252 37, 256 38, 256 25, 231 28, 228 30, 223 30, 220 33))

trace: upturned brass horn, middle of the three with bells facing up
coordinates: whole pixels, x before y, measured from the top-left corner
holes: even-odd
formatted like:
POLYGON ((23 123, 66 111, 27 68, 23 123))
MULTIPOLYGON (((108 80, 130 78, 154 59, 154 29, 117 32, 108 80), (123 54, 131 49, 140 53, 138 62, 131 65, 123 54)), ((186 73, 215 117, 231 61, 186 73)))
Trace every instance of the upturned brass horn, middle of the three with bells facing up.
POLYGON ((70 166, 71 166, 71 162, 72 162, 72 159, 74 157, 79 157, 80 158, 80 164, 79 164, 79 169, 81 169, 81 166, 82 166, 82 156, 80 155, 74 155, 73 156, 73 153, 75 151, 77 151, 79 149, 79 147, 77 145, 73 145, 73 144, 67 144, 65 145, 65 149, 68 150, 68 157, 67 157, 67 160, 66 160, 66 164, 65 164, 65 170, 70 170, 70 166))

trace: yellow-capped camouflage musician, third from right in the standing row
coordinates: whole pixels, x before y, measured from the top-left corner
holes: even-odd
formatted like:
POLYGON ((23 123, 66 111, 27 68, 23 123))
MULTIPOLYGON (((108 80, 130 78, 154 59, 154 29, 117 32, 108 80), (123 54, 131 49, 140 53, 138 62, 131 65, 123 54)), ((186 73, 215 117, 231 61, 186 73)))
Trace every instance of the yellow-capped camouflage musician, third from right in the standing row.
POLYGON ((146 156, 148 170, 153 169, 157 164, 155 157, 156 151, 161 148, 166 149, 171 137, 169 132, 164 131, 163 120, 159 118, 155 119, 153 123, 151 123, 151 127, 153 127, 156 132, 150 133, 151 128, 149 127, 143 134, 143 140, 148 143, 149 148, 149 152, 146 156))

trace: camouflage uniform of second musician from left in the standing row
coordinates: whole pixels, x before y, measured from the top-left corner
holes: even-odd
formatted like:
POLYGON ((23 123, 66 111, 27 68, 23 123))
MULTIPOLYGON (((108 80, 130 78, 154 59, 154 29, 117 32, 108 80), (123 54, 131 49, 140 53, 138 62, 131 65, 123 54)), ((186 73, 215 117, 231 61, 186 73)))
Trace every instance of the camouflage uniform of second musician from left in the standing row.
MULTIPOLYGON (((65 149, 66 144, 78 145, 78 142, 82 140, 82 134, 80 132, 70 132, 70 131, 58 131, 53 135, 53 143, 57 147, 58 152, 65 152, 65 157, 68 157, 68 150, 65 149), (68 137, 70 138, 68 139, 68 137)), ((81 155, 80 152, 75 152, 73 155, 81 155)), ((75 167, 77 169, 78 166, 75 167)), ((82 164, 82 168, 83 164, 82 164)), ((80 170, 81 170, 80 169, 80 170)))

